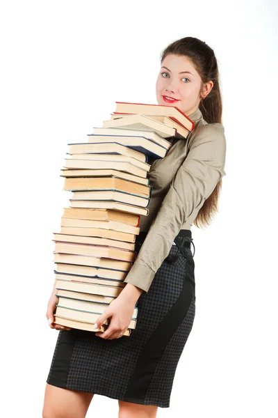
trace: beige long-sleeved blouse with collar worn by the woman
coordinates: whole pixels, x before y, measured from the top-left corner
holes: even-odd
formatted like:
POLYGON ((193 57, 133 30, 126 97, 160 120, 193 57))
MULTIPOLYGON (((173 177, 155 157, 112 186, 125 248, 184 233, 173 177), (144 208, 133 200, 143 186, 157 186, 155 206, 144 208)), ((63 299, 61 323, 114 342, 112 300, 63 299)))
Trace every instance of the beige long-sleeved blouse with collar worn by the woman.
POLYGON ((149 162, 152 185, 149 215, 140 218, 140 231, 148 231, 136 261, 124 279, 147 292, 154 275, 170 252, 181 229, 191 229, 199 209, 218 181, 226 175, 226 139, 221 123, 206 123, 197 109, 188 139, 172 137, 164 158, 149 162))

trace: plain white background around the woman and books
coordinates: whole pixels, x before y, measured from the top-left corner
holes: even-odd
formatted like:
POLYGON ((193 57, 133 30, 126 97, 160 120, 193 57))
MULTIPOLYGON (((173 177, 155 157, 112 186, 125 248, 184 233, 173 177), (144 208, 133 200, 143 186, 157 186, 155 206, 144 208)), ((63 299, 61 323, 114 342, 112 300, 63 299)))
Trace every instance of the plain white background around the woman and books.
MULTIPOLYGON (((1 415, 41 416, 67 144, 87 141, 115 101, 156 103, 161 52, 194 36, 219 63, 227 175, 213 224, 193 227, 195 323, 158 417, 277 417, 277 11, 275 0, 1 2, 1 415)), ((96 395, 87 416, 117 417, 117 401, 96 395)))

